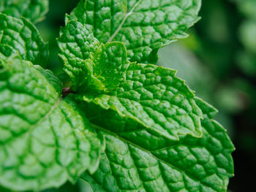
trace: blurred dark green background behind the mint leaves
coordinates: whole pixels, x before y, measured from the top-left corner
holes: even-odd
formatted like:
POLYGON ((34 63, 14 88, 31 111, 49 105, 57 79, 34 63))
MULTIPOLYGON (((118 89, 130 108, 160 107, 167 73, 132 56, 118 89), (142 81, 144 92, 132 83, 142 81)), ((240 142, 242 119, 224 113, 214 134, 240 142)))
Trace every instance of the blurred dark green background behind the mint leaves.
MULTIPOLYGON (((56 37, 78 0, 52 0, 46 20, 38 23, 50 42, 48 69, 61 77, 56 37)), ((236 146, 236 174, 229 191, 252 191, 256 181, 256 0, 203 0, 201 20, 189 29, 189 38, 159 51, 159 65, 178 70, 197 96, 219 110, 222 123, 236 146)), ((89 192, 80 180, 58 190, 89 192)))

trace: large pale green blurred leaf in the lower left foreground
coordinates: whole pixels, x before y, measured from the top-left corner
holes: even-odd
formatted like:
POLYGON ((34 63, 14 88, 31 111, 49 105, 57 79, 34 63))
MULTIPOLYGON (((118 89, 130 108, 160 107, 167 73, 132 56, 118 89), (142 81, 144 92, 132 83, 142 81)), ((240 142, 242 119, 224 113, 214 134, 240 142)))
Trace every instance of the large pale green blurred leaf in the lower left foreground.
POLYGON ((7 61, 0 71, 0 185, 38 191, 97 169, 102 137, 72 100, 61 99, 30 62, 7 61))

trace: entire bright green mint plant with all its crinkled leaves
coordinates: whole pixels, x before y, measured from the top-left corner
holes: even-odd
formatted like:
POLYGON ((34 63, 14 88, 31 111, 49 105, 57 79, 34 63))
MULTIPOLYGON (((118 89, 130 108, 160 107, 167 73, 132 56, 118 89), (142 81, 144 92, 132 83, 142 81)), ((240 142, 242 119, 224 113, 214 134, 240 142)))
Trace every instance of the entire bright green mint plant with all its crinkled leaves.
POLYGON ((226 191, 234 147, 217 110, 155 65, 160 47, 187 37, 200 0, 81 0, 57 39, 68 88, 45 69, 31 23, 47 6, 0 4, 0 185, 226 191))

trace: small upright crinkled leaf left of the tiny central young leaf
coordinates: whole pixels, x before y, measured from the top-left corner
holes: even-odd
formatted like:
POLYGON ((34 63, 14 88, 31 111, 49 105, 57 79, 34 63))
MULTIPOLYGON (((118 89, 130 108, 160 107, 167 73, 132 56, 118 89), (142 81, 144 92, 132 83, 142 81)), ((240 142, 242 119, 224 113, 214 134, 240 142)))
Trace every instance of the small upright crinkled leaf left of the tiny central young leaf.
POLYGON ((57 39, 60 48, 59 57, 75 90, 86 80, 85 60, 90 58, 90 53, 97 50, 99 42, 93 34, 90 34, 86 25, 76 20, 69 20, 68 16, 66 21, 66 26, 61 28, 60 37, 57 39))

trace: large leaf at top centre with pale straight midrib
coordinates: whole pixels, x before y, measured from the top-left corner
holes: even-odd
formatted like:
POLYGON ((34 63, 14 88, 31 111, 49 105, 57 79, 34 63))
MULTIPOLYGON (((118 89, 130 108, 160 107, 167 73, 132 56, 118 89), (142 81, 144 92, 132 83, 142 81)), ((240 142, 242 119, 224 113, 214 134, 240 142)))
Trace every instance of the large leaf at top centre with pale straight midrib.
POLYGON ((187 37, 199 20, 200 0, 81 0, 71 18, 90 28, 99 42, 124 42, 130 61, 157 62, 160 47, 187 37))

